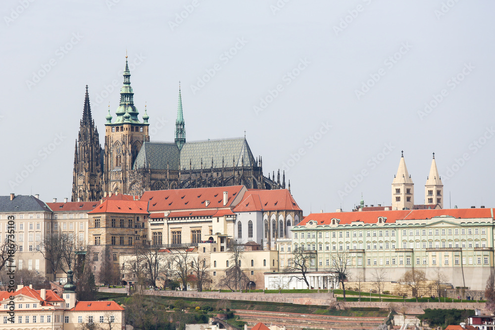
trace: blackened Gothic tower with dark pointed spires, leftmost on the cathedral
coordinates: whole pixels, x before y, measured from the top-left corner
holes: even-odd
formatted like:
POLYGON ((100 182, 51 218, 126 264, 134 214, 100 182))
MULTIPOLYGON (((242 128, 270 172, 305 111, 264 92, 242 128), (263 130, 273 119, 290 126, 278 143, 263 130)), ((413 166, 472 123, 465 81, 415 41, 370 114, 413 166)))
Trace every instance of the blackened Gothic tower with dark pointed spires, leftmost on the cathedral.
POLYGON ((96 201, 101 198, 102 168, 98 130, 91 117, 88 85, 84 97, 83 117, 74 150, 72 201, 96 201))

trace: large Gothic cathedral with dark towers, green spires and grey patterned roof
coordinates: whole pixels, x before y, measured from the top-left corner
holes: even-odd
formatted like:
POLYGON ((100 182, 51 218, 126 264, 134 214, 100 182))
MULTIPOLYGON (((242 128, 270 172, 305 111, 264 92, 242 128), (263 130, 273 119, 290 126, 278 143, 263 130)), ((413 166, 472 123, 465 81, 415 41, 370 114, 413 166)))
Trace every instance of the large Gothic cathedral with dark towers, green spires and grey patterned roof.
MULTIPOLYGON (((285 189, 285 173, 263 176, 262 157, 254 158, 246 137, 186 141, 179 87, 175 141, 149 141, 149 116, 138 118, 126 64, 120 104, 105 117, 104 148, 91 116, 86 86, 83 117, 74 152, 72 201, 95 201, 107 193, 141 195, 146 190, 224 187, 285 189), (112 121, 113 120, 113 121, 112 121)), ((290 181, 288 188, 290 189, 290 181)))

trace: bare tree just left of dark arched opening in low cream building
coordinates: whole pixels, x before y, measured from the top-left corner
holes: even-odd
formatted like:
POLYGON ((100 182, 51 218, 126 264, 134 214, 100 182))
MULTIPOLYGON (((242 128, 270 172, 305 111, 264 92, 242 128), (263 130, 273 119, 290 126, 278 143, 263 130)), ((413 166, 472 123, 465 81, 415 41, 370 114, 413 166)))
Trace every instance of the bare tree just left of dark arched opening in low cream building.
POLYGON ((221 285, 227 286, 231 290, 241 290, 247 287, 249 278, 241 268, 242 259, 244 256, 244 244, 238 243, 236 240, 231 240, 228 246, 230 266, 225 271, 225 275, 220 281, 221 285))

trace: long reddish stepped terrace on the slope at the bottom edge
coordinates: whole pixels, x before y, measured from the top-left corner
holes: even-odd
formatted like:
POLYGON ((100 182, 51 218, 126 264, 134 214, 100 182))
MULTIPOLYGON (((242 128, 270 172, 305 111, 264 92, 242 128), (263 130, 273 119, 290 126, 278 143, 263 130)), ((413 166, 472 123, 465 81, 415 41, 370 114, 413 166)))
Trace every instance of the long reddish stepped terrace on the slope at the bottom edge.
POLYGON ((252 327, 258 322, 266 326, 285 326, 288 329, 324 329, 324 330, 362 330, 376 329, 386 322, 387 318, 382 317, 347 317, 329 316, 315 314, 297 314, 264 312, 250 310, 235 310, 234 314, 240 320, 247 322, 248 327, 252 327))

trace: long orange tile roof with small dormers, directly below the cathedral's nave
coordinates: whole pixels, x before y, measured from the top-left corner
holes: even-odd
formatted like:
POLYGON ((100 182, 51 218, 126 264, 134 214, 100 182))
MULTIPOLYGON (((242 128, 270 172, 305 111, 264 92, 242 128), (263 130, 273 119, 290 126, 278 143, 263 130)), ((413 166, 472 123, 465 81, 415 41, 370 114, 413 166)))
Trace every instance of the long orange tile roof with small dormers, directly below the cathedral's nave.
POLYGON ((228 192, 227 206, 231 206, 234 199, 244 186, 168 189, 145 191, 142 201, 149 201, 149 211, 173 211, 184 209, 203 209, 223 207, 223 192, 228 192), (206 206, 205 201, 210 203, 206 206))

